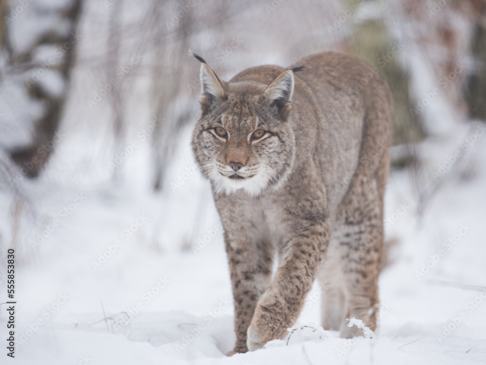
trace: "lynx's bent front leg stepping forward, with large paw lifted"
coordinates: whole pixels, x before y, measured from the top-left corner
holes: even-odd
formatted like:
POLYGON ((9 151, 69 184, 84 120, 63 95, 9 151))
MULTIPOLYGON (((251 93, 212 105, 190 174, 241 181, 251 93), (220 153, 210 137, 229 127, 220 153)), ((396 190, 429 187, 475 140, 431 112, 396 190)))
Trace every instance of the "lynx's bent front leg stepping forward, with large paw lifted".
POLYGON ((295 233, 270 287, 261 296, 250 327, 248 349, 282 338, 292 327, 312 287, 329 242, 329 227, 318 224, 295 233))

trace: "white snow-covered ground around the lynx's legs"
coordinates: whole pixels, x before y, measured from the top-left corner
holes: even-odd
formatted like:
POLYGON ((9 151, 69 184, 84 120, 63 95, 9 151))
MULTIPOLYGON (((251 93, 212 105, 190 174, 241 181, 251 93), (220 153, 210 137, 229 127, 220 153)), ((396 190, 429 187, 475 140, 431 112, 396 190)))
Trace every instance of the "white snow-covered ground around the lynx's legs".
MULTIPOLYGON (((346 340, 320 329, 326 288, 315 283, 295 325, 309 327, 295 330, 288 345, 274 341, 232 357, 225 356, 235 338, 226 254, 208 183, 192 172, 188 134, 160 194, 140 183, 147 180, 143 146, 124 162, 123 187, 73 185, 68 166, 79 156, 63 151, 87 152, 66 138, 39 181, 19 182, 28 191, 20 227, 31 224, 33 233, 20 232, 17 247, 16 358, 5 360, 3 342, 0 363, 485 364, 485 137, 462 152, 462 166, 473 166, 467 173, 459 162, 444 166, 471 130, 459 130, 450 144, 420 146, 430 156, 421 170, 425 186, 439 164, 449 174, 423 219, 417 176, 390 173, 386 236, 397 243, 380 279, 374 338, 346 340), (39 238, 54 219, 53 232, 39 238)), ((10 195, 0 199, 11 207, 10 195)), ((12 228, 11 213, 1 213, 2 232, 12 228)), ((4 276, 0 292, 5 298, 4 276)))

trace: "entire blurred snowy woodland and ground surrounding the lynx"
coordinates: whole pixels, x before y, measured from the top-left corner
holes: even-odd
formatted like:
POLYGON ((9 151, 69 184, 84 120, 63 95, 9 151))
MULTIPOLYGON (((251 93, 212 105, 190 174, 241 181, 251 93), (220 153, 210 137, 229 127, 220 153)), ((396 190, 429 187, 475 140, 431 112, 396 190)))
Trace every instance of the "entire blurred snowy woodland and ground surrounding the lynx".
POLYGON ((0 303, 9 248, 17 301, 15 359, 0 304, 0 364, 486 363, 484 1, 0 8, 0 303), (189 48, 225 80, 326 50, 387 79, 397 111, 373 338, 321 329, 316 282, 288 342, 225 356, 232 294, 189 147, 189 48))

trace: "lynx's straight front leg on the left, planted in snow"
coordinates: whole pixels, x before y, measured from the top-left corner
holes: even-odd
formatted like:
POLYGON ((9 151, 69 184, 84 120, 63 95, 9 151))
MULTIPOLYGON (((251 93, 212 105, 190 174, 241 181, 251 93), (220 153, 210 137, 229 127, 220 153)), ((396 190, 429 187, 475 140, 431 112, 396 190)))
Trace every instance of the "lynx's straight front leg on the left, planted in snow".
POLYGON ((273 252, 270 245, 264 242, 238 244, 226 239, 226 253, 235 306, 234 352, 246 352, 246 331, 257 301, 272 278, 273 252))

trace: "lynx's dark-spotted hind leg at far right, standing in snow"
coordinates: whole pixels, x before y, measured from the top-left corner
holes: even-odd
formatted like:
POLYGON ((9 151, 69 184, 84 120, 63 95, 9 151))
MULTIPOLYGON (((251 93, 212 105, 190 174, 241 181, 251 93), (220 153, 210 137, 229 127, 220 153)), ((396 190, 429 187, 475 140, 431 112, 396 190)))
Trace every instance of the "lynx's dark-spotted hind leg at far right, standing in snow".
POLYGON ((378 275, 383 242, 383 189, 380 176, 366 179, 357 176, 342 205, 341 268, 346 298, 341 337, 362 335, 347 318, 361 319, 365 326, 376 329, 379 303, 378 275))

